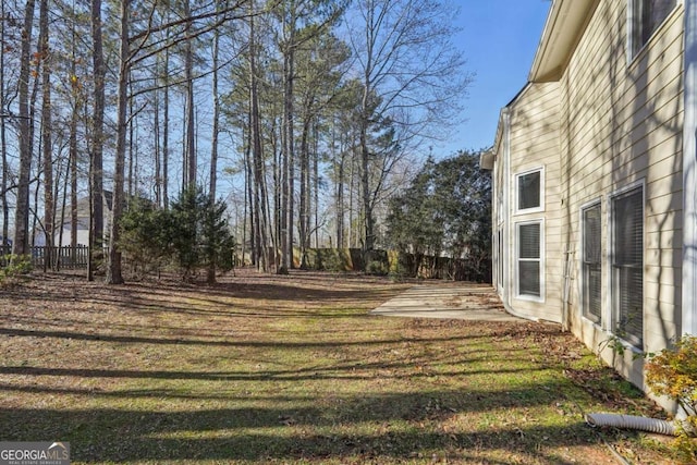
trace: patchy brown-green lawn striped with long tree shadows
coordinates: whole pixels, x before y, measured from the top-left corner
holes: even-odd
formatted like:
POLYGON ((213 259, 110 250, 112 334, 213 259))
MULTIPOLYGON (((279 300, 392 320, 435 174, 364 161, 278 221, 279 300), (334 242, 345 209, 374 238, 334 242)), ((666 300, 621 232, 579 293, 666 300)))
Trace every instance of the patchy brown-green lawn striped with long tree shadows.
POLYGON ((0 440, 74 464, 671 463, 584 423, 659 412, 558 326, 367 314, 407 287, 34 277, 0 290, 0 440))

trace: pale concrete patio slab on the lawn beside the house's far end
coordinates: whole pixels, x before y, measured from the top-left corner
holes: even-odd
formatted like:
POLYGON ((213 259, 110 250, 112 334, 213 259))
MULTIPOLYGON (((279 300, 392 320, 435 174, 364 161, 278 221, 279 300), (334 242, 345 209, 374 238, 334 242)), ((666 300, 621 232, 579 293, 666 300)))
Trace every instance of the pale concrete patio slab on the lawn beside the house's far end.
POLYGON ((370 314, 389 317, 523 321, 505 311, 490 284, 465 282, 429 282, 415 285, 370 314))

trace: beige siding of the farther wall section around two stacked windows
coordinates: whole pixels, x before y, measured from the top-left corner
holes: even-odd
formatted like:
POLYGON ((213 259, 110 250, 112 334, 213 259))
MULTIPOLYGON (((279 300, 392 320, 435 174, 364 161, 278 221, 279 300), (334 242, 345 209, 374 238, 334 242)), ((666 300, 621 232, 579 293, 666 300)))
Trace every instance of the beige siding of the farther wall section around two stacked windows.
MULTIPOLYGON (((560 217, 560 159, 559 159, 559 83, 527 86, 510 106, 506 120, 509 130, 501 140, 500 158, 496 167, 499 185, 508 178, 509 188, 499 195, 497 211, 502 237, 501 254, 505 257, 509 285, 505 289, 509 308, 522 316, 561 321, 560 296, 563 262, 560 217), (524 173, 540 171, 541 207, 533 211, 518 211, 516 179, 524 173), (504 174, 508 172, 508 176, 504 174), (505 201, 501 198, 505 196, 505 201), (504 207, 508 206, 506 207, 504 207), (506 208, 505 212, 502 211, 506 208), (504 215, 501 215, 504 213, 504 215), (517 257, 519 224, 540 223, 541 228, 541 295, 539 298, 522 296, 517 289, 517 257), (503 238, 505 237, 505 238, 503 238)), ((494 223, 494 224, 496 224, 494 223)))

